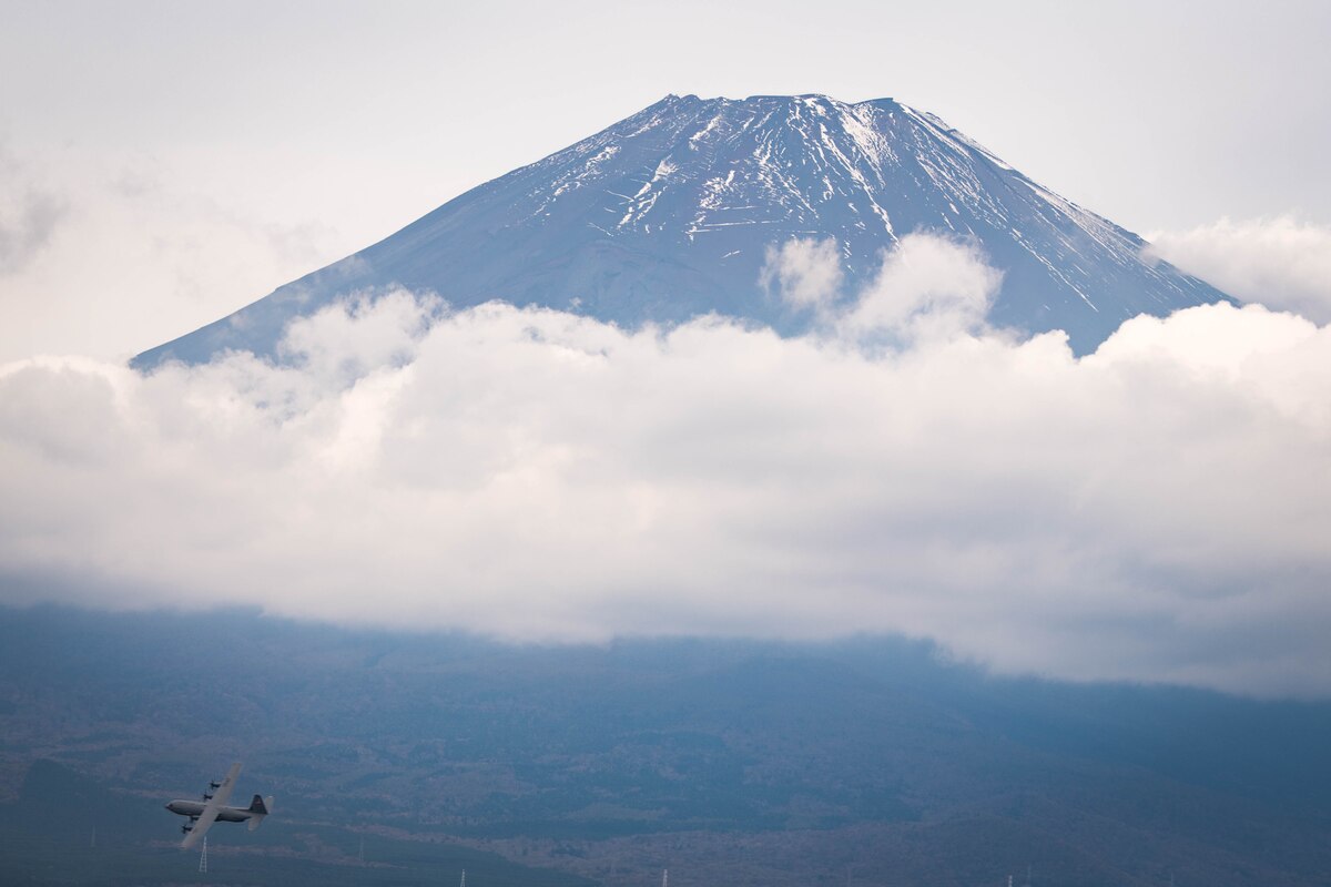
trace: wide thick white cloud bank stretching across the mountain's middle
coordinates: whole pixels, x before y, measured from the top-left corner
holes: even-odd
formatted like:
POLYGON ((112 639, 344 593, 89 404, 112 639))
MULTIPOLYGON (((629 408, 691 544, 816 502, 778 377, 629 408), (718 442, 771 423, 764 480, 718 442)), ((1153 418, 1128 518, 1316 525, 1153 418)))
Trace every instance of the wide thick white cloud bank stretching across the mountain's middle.
POLYGON ((281 366, 8 364, 0 593, 1331 692, 1331 331, 1218 305, 1077 359, 968 332, 970 261, 892 314, 960 326, 893 347, 390 293, 281 366))

